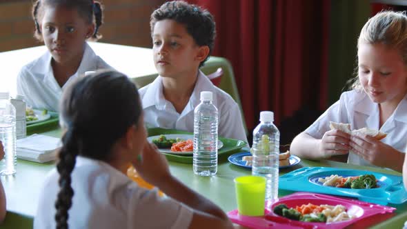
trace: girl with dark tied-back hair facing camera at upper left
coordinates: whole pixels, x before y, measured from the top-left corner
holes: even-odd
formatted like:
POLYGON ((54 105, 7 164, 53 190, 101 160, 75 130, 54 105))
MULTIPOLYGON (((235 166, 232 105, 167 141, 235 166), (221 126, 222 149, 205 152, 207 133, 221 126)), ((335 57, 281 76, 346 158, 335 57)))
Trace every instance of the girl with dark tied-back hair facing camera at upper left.
POLYGON ((111 67, 86 41, 101 38, 101 4, 93 0, 37 0, 32 8, 34 37, 48 51, 21 68, 17 93, 28 106, 58 111, 64 88, 78 75, 111 67))

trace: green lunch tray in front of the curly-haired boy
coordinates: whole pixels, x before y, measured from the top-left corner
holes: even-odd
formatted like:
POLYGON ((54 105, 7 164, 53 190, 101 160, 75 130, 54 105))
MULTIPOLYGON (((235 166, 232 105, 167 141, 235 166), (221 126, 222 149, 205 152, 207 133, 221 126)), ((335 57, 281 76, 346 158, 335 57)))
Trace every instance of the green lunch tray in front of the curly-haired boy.
MULTIPOLYGON (((171 134, 189 134, 193 135, 191 132, 183 130, 172 130, 163 128, 148 128, 148 137, 155 135, 171 135, 171 134)), ((241 148, 247 145, 246 142, 237 139, 226 139, 224 137, 219 137, 219 140, 224 143, 224 146, 218 150, 218 161, 227 160, 228 156, 235 152, 239 152, 241 148)), ((166 155, 168 161, 177 161, 180 163, 190 163, 192 164, 192 155, 172 155, 163 152, 166 155)))

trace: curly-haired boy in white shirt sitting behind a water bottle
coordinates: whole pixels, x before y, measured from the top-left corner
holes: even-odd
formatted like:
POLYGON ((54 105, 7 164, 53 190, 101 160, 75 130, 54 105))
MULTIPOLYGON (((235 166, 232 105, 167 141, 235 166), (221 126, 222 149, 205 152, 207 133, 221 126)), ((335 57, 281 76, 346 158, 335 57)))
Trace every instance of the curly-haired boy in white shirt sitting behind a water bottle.
POLYGON ((185 1, 170 1, 152 13, 150 27, 159 77, 139 90, 146 125, 193 132, 194 109, 206 90, 219 110, 219 136, 247 142, 239 106, 199 70, 215 41, 212 15, 185 1))

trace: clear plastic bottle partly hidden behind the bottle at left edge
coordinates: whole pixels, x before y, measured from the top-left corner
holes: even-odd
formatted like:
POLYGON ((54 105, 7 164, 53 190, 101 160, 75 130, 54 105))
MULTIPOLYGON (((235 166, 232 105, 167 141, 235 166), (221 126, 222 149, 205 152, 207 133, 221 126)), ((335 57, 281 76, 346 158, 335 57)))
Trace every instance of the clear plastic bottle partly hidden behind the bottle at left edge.
POLYGON ((24 96, 17 94, 10 99, 10 103, 16 109, 16 135, 17 139, 22 139, 27 135, 26 102, 24 96))

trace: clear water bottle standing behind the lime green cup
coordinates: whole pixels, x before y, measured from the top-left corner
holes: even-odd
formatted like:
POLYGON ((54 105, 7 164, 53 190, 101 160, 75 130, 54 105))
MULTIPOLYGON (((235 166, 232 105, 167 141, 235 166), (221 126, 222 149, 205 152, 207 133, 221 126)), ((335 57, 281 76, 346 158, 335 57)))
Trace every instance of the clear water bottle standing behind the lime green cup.
POLYGON ((260 112, 260 123, 253 130, 252 175, 266 177, 266 199, 277 201, 279 192, 280 132, 272 123, 271 111, 260 112))

